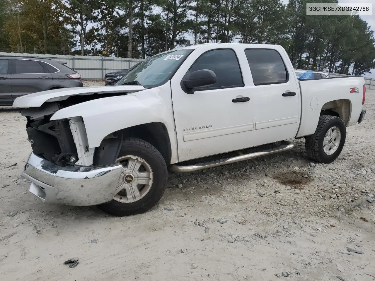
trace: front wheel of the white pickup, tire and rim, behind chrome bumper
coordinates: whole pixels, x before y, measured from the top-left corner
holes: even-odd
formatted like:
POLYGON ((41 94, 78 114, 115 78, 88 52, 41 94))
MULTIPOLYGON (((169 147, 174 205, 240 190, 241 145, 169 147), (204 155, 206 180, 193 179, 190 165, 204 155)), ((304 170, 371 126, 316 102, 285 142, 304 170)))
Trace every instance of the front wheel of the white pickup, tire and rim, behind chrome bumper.
POLYGON ((141 214, 156 205, 168 178, 160 152, 148 142, 128 138, 123 141, 116 162, 122 165, 116 193, 111 202, 98 207, 110 215, 123 217, 141 214))

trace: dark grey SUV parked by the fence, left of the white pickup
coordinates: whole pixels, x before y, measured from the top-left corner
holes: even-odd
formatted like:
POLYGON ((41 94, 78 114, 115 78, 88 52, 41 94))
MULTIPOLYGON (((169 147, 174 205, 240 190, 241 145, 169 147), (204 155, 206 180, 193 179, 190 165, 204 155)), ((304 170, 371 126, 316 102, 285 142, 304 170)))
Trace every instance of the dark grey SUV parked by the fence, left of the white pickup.
POLYGON ((58 88, 82 87, 81 75, 48 58, 0 56, 0 105, 16 97, 58 88))

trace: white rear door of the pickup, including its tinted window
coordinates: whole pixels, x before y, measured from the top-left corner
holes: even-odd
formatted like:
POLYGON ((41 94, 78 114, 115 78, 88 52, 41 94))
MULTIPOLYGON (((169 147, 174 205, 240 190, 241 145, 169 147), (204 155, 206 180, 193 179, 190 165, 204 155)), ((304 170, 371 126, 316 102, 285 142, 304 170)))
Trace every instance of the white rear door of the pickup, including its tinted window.
POLYGON ((246 49, 245 54, 253 80, 255 145, 294 138, 300 119, 300 95, 293 66, 282 59, 286 52, 275 46, 246 49))

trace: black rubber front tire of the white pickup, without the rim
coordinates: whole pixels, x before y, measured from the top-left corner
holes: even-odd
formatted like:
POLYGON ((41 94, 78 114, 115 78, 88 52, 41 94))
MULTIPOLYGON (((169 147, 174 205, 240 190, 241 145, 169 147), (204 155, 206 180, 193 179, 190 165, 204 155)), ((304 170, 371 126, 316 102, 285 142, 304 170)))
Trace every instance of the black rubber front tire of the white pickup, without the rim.
POLYGON ((148 193, 138 201, 121 203, 113 199, 109 203, 98 206, 102 211, 117 217, 141 214, 155 206, 164 194, 168 178, 163 156, 150 143, 136 138, 124 139, 118 157, 125 155, 143 158, 152 169, 153 182, 148 193))

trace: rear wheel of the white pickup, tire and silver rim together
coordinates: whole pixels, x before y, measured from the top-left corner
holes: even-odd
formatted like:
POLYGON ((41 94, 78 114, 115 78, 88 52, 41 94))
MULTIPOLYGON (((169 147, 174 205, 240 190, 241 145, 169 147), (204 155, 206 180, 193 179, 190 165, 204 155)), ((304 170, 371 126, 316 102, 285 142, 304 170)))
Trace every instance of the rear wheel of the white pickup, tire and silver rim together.
POLYGON ((314 135, 306 137, 306 152, 319 163, 331 163, 340 155, 345 138, 346 128, 342 119, 322 115, 314 135))

